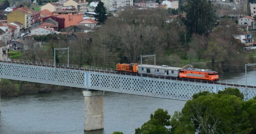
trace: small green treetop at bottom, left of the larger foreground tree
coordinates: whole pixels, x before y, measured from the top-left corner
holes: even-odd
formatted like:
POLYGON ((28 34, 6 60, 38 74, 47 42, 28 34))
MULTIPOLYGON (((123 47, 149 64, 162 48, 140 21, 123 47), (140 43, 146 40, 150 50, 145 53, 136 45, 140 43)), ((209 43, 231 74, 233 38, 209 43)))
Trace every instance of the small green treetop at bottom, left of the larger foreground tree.
POLYGON ((162 133, 167 134, 170 133, 169 129, 165 126, 169 126, 170 122, 170 115, 168 114, 168 111, 158 108, 156 111, 154 111, 154 114, 150 115, 150 119, 145 122, 141 128, 135 129, 135 134, 140 133, 162 133))

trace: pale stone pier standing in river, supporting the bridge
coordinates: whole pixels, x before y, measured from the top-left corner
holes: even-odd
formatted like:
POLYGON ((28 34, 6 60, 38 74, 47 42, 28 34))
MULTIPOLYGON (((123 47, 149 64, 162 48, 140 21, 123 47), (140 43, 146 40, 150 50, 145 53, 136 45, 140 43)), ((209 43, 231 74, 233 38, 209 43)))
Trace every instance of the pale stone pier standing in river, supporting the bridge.
POLYGON ((83 90, 84 96, 84 131, 104 128, 103 91, 83 90))

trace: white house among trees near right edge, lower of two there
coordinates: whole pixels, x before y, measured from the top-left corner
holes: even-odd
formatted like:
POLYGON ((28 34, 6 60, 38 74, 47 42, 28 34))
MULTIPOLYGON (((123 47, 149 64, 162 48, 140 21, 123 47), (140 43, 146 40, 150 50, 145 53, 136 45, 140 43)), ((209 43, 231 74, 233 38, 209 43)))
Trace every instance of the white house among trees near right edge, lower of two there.
POLYGON ((239 39, 241 43, 243 43, 245 46, 252 46, 253 45, 253 38, 252 34, 248 32, 240 32, 238 34, 233 35, 234 38, 239 39))

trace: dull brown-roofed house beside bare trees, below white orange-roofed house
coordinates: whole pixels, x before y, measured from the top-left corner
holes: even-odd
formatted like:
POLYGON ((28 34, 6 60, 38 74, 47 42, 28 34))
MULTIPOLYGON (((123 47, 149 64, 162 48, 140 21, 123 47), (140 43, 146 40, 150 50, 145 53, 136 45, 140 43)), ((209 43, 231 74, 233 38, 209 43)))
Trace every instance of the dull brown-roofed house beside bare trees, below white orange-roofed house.
POLYGON ((68 35, 68 43, 75 42, 77 40, 80 41, 89 41, 89 36, 85 32, 73 32, 68 35))

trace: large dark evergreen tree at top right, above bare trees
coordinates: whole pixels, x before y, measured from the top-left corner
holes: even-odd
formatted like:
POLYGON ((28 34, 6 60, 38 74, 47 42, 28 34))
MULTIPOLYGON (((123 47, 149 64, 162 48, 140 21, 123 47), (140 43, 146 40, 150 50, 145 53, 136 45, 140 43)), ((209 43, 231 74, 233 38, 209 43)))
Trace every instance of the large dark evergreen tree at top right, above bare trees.
POLYGON ((209 33, 215 22, 215 10, 210 0, 187 0, 184 7, 186 25, 190 32, 197 34, 209 33))

